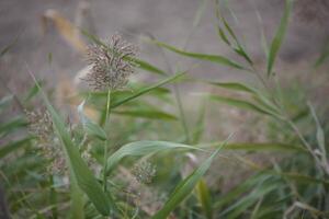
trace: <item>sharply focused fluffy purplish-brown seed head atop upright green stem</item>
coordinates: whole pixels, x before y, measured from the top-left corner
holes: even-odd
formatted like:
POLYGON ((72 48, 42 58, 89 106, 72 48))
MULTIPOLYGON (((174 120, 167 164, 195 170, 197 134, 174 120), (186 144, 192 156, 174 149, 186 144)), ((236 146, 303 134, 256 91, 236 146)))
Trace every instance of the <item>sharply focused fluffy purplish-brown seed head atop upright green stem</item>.
POLYGON ((94 90, 121 90, 127 82, 136 62, 137 47, 122 39, 117 34, 105 45, 94 45, 88 49, 88 61, 92 66, 86 80, 94 90))

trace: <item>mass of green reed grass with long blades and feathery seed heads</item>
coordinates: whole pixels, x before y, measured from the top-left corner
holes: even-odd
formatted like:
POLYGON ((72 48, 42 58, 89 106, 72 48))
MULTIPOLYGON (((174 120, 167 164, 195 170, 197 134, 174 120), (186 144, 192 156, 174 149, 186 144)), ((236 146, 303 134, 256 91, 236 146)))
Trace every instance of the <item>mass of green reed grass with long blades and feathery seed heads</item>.
MULTIPOLYGON (((155 38, 148 42, 182 58, 235 68, 253 77, 253 84, 193 78, 189 76, 191 67, 166 72, 139 60, 133 50, 117 49, 116 36, 114 43, 106 44, 83 32, 95 45, 91 62, 97 68, 88 82, 97 88, 69 96, 67 104, 76 105, 71 117, 55 106, 52 94, 32 72, 34 85, 25 96, 9 93, 0 101, 0 113, 5 117, 0 125, 0 178, 10 216, 329 218, 328 103, 306 100, 303 87, 280 84, 275 70, 292 8, 287 0, 263 69, 254 65, 243 46, 248 42, 235 33, 218 3, 214 30, 240 61, 177 48, 155 38), (134 68, 151 73, 157 82, 126 81, 125 73, 134 68), (118 74, 106 78, 109 72, 118 74), (196 94, 201 102, 193 105, 198 108, 195 115, 189 115, 190 106, 181 102, 178 87, 183 82, 207 88, 196 94), (36 108, 35 103, 44 108, 36 108), (21 107, 21 114, 5 116, 13 105, 21 107), (237 142, 239 127, 224 139, 204 140, 207 112, 222 106, 249 112, 258 123, 247 130, 253 135, 252 129, 261 128, 257 135, 264 135, 264 140, 237 142), (249 159, 250 154, 266 161, 249 159), (212 171, 218 160, 248 169, 248 174, 224 189, 220 177, 212 171), (208 183, 209 178, 217 184, 208 183)), ((203 9, 201 4, 194 28, 203 9)), ((1 56, 13 46, 2 49, 1 56)), ((325 64, 324 57, 316 68, 325 64)), ((215 128, 225 127, 224 123, 215 128)))

